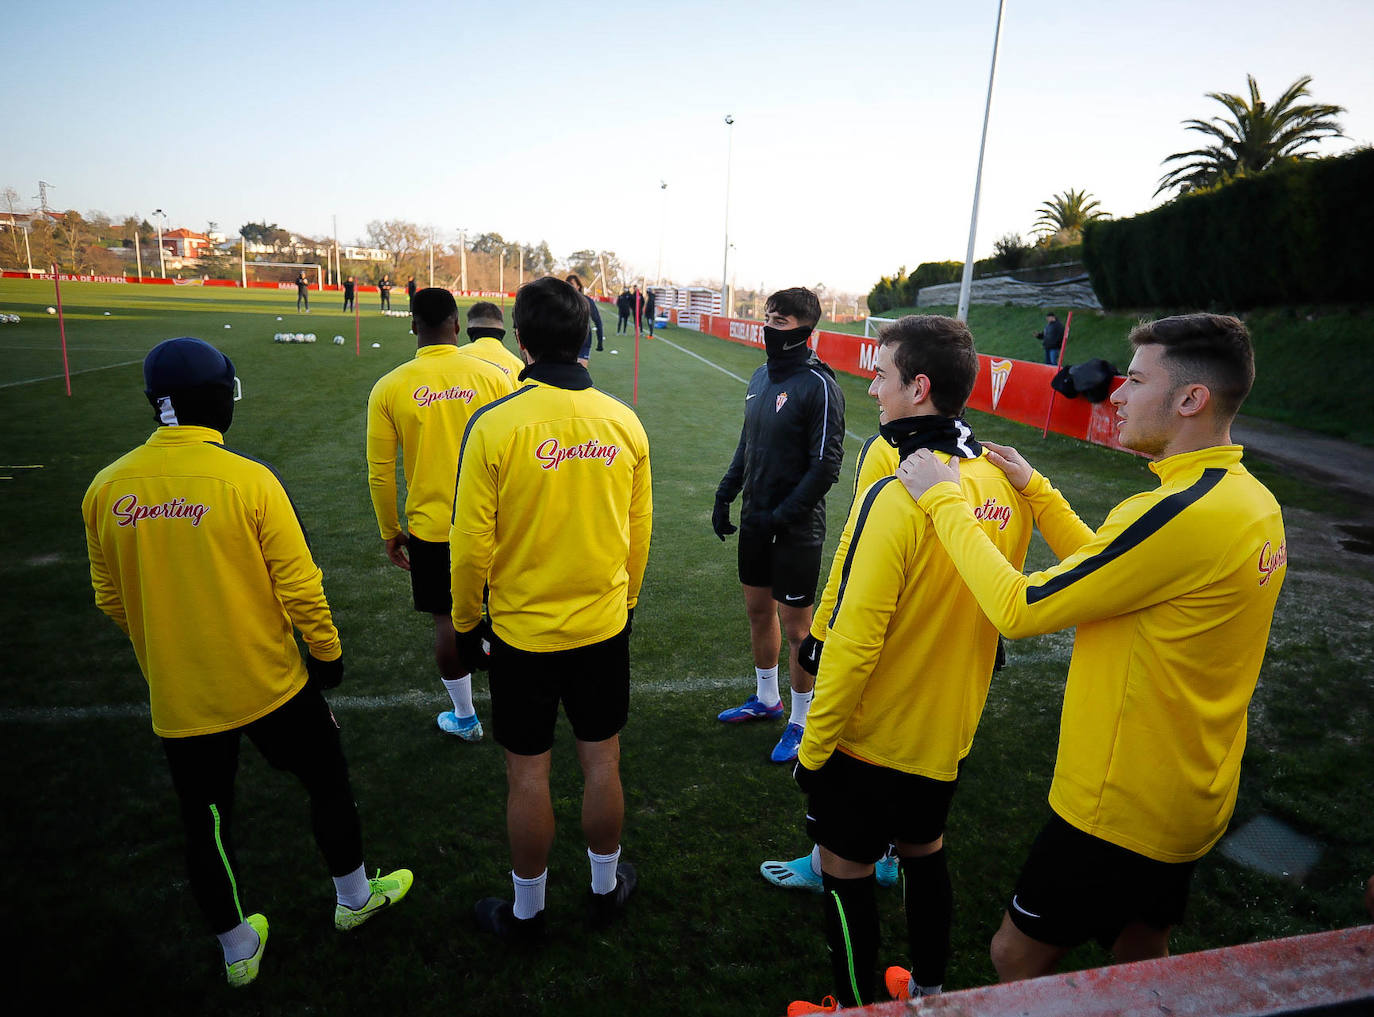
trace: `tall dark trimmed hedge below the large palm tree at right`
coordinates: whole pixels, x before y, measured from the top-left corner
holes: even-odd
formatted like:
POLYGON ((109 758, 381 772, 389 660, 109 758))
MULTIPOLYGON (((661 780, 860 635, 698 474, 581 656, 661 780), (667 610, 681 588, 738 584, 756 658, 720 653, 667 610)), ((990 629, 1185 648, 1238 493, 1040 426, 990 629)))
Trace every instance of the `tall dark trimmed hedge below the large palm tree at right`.
POLYGON ((1287 162, 1090 223, 1083 261, 1105 308, 1369 302, 1374 150, 1287 162))

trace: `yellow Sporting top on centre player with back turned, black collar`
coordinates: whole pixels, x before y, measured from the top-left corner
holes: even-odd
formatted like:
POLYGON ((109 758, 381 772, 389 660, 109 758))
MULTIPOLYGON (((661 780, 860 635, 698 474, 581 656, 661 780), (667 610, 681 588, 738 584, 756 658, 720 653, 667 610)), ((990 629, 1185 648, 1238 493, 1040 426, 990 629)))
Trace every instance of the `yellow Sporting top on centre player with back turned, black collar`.
POLYGON ((635 411, 578 364, 533 364, 473 416, 449 535, 453 627, 481 620, 521 650, 554 651, 625 627, 649 561, 649 438, 635 411))

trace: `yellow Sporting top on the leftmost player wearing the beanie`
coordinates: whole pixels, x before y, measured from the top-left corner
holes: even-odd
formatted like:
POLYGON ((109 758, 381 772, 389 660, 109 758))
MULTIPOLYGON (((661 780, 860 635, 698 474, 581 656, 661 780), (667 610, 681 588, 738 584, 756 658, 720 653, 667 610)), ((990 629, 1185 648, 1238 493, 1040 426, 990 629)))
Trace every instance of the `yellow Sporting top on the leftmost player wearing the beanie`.
POLYGON ((242 727, 295 695, 293 624, 316 658, 342 653, 286 488, 223 441, 159 427, 81 502, 96 606, 133 643, 164 738, 242 727))

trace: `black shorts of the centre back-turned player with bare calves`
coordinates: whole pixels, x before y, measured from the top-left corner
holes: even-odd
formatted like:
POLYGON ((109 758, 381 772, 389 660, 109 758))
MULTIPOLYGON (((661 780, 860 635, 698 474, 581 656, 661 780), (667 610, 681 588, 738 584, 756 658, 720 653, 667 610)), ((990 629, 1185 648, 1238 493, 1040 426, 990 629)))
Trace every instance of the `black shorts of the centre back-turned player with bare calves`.
POLYGON ((503 749, 537 756, 554 748, 559 702, 577 741, 603 742, 629 717, 629 627, 552 653, 517 650, 493 635, 486 678, 492 731, 503 749))

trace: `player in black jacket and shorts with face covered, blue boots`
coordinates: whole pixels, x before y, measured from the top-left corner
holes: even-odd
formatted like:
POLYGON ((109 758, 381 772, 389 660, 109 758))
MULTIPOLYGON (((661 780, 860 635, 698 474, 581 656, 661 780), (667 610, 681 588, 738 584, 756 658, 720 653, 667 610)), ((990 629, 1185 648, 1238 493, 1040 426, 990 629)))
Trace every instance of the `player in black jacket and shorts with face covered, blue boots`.
POLYGON ((757 689, 719 720, 736 724, 782 719, 778 653, 787 635, 791 716, 771 753, 797 759, 815 679, 797 661, 811 628, 820 546, 826 539, 826 492, 844 462, 845 399, 834 371, 809 346, 820 320, 811 290, 779 290, 764 308, 767 361, 745 393, 739 447, 716 489, 712 529, 724 540, 739 530, 739 583, 749 614, 757 689), (730 504, 743 492, 739 526, 730 504))

